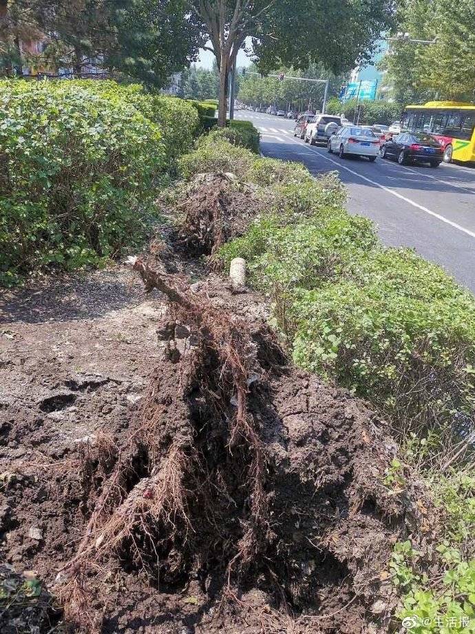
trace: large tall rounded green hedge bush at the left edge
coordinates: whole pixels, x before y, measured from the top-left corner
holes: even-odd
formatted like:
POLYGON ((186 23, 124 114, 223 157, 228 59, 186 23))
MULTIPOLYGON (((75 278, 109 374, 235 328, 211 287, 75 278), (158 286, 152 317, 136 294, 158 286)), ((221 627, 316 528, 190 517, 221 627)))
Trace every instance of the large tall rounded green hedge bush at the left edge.
POLYGON ((98 88, 0 82, 3 283, 98 265, 147 232, 168 165, 160 127, 98 88))

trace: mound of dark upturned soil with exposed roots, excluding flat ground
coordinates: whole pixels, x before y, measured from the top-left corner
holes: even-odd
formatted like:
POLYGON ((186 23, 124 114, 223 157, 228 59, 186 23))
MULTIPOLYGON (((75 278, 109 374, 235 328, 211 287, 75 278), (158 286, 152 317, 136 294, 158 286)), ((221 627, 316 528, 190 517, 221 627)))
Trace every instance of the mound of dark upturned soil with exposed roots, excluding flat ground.
POLYGON ((386 631, 416 513, 382 483, 386 426, 289 366, 253 294, 137 267, 171 299, 147 397, 126 435, 6 482, 8 542, 35 506, 57 526, 22 563, 88 632, 386 631))

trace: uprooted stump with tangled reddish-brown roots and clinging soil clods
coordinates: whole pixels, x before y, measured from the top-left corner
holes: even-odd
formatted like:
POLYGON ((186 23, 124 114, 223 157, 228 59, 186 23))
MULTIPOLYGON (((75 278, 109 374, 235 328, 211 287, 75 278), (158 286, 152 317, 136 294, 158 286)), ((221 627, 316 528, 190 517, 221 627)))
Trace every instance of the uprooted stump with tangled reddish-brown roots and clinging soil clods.
POLYGON ((263 631, 355 633, 387 619, 392 544, 419 518, 404 491, 383 484, 396 449, 385 425, 289 367, 263 323, 143 260, 134 269, 169 299, 169 341, 62 571, 67 617, 101 627, 111 608, 104 598, 98 613, 89 586, 114 559, 167 593, 198 579, 224 606, 216 618, 232 603, 263 631), (249 589, 264 607, 243 598, 249 589))

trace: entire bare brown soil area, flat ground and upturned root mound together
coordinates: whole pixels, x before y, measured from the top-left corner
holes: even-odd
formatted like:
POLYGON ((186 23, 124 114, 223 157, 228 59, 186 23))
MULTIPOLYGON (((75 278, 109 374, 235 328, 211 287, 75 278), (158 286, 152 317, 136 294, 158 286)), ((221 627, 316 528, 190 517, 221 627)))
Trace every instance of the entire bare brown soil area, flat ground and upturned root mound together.
POLYGON ((385 423, 289 365, 263 298, 178 268, 171 304, 124 267, 6 297, 0 632, 390 631, 421 518, 385 423))

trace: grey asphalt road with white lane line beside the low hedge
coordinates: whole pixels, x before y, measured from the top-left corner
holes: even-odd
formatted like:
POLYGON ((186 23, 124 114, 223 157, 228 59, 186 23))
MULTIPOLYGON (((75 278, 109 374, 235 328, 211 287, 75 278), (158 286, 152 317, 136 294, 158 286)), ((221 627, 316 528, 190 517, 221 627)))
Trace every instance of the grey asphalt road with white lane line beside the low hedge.
POLYGON ((295 122, 238 110, 261 133, 264 156, 304 163, 312 174, 339 172, 348 211, 371 218, 386 245, 414 247, 475 292, 475 169, 443 163, 402 166, 377 159, 340 159, 293 136, 295 122))

